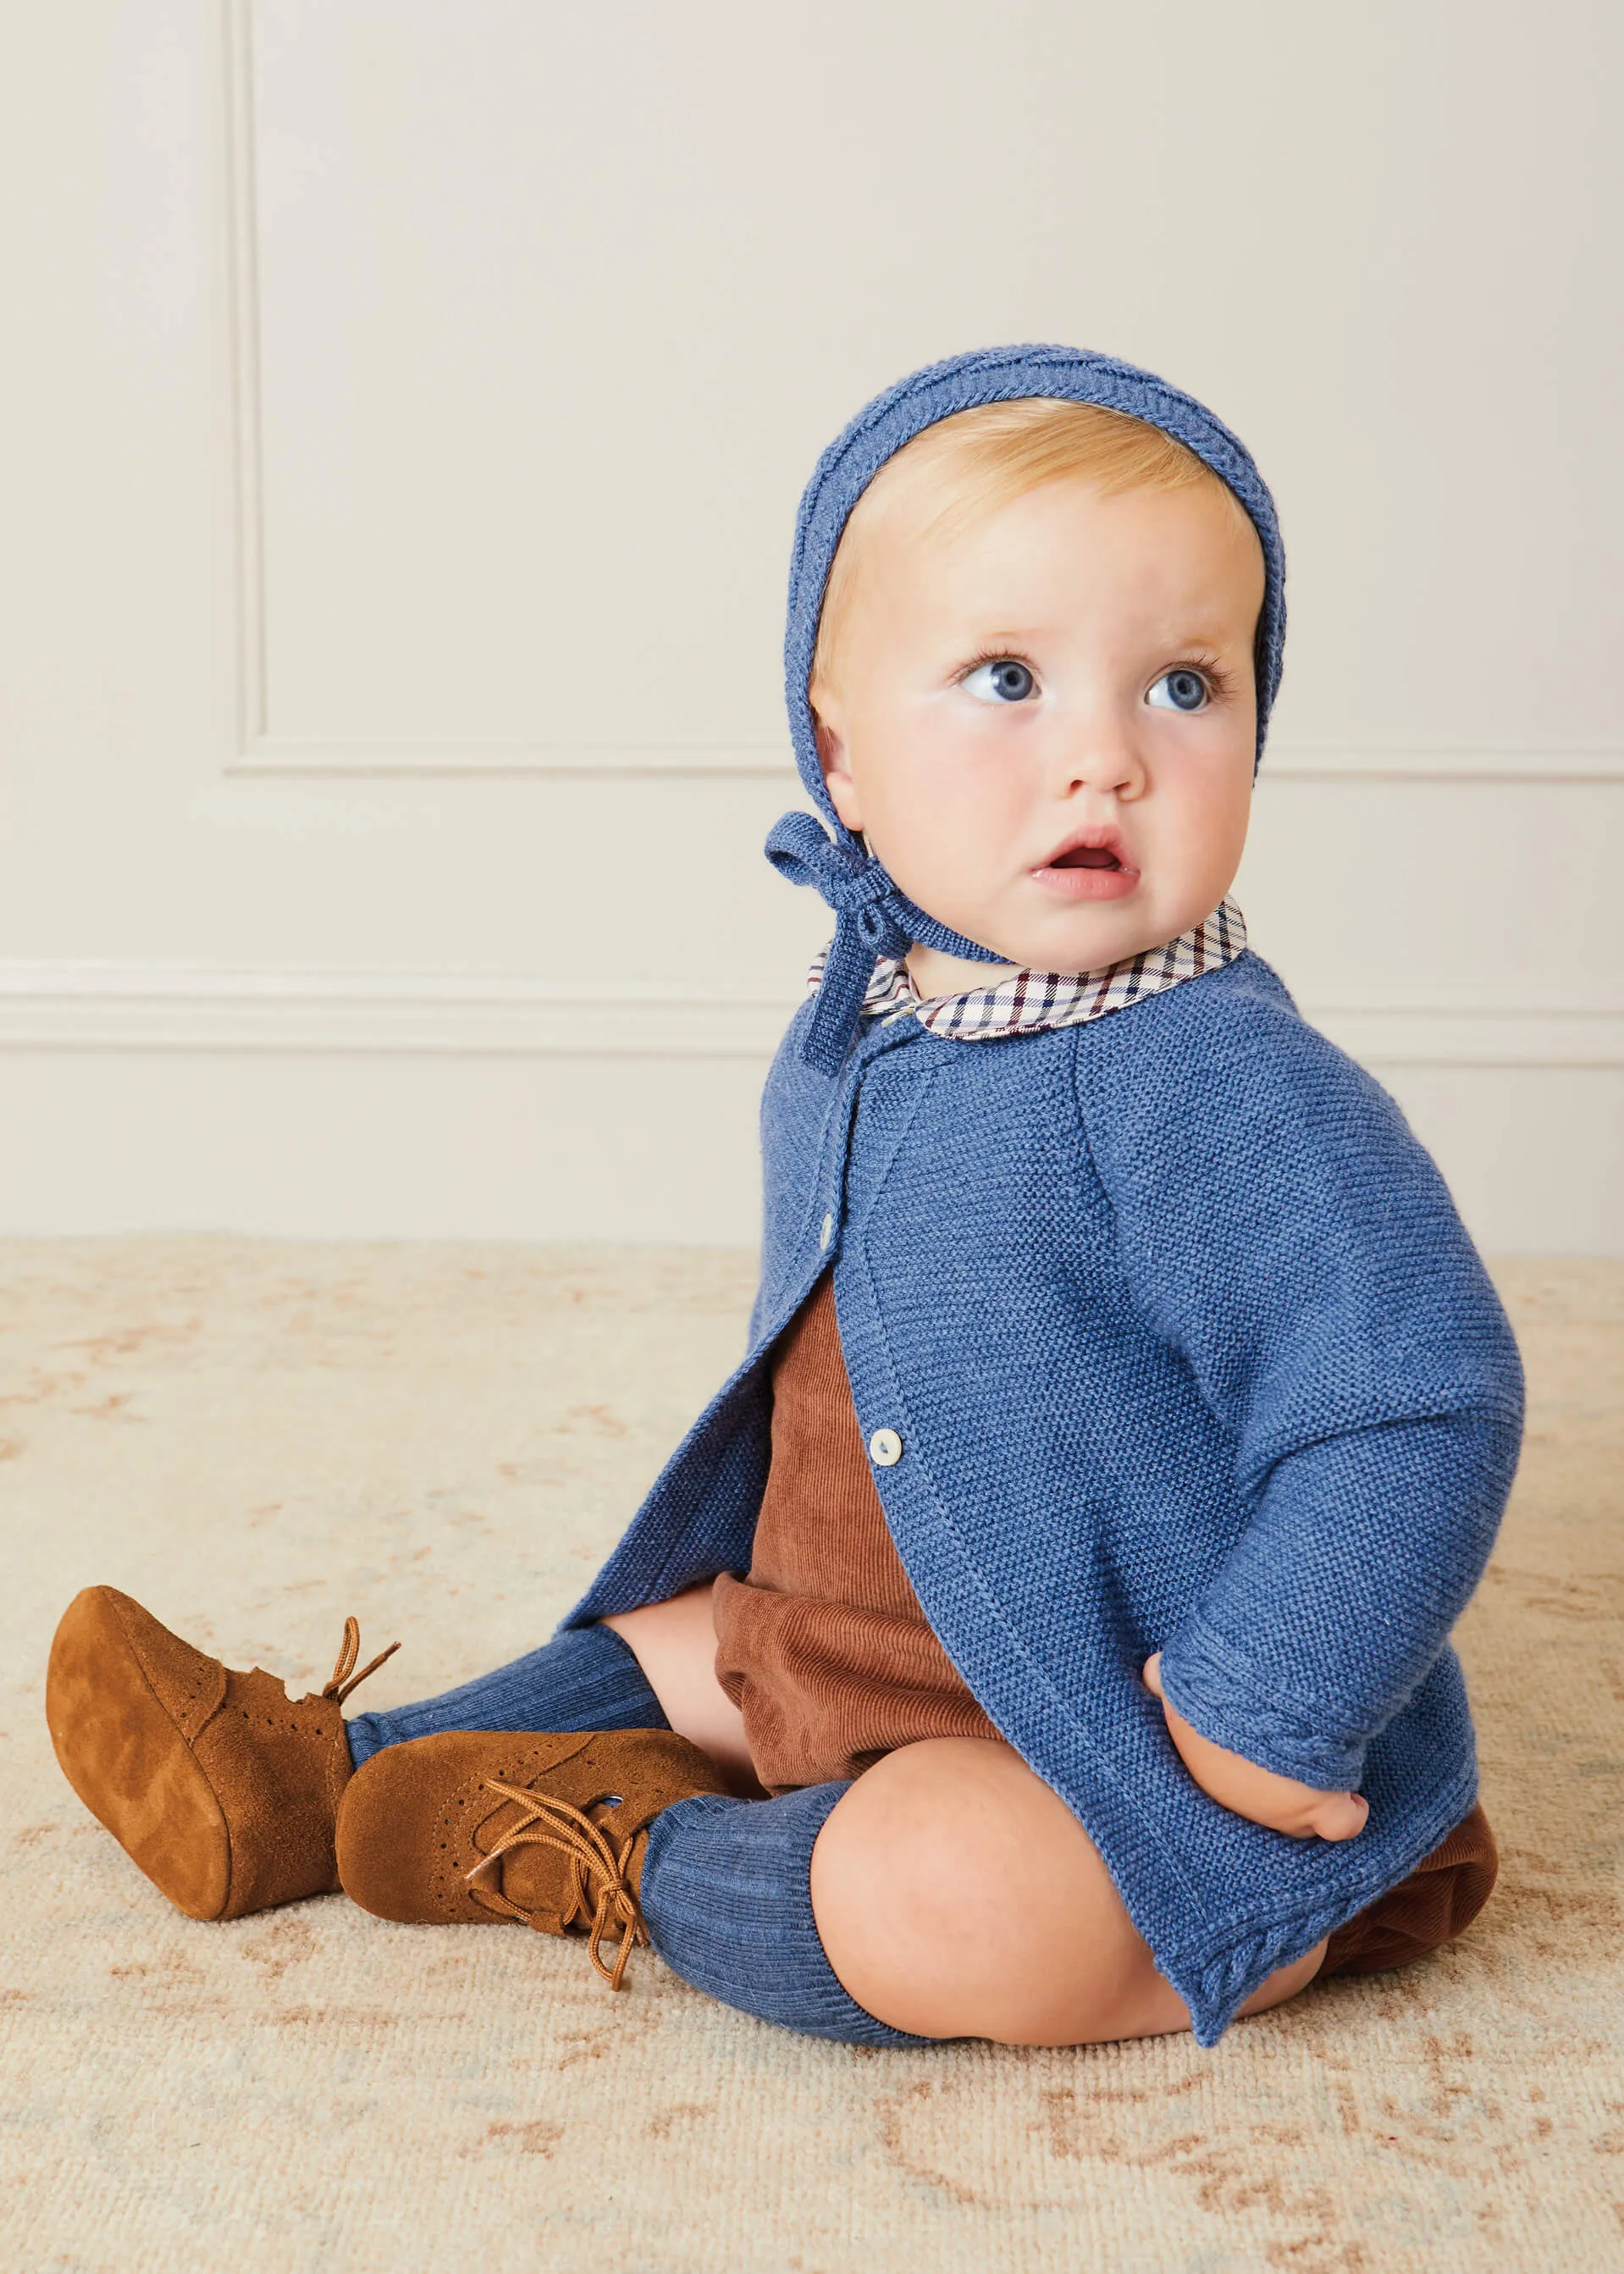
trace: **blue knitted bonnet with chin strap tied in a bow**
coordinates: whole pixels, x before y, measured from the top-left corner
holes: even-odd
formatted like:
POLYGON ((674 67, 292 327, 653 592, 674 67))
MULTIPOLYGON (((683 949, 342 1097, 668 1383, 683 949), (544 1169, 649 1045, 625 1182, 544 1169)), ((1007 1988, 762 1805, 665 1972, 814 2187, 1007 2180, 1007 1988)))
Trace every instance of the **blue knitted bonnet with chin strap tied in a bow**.
POLYGON ((1119 364, 1087 348, 980 348, 951 355, 887 387, 857 412, 812 471, 796 514, 789 553, 789 621, 785 630, 785 700, 796 771, 823 823, 812 814, 785 814, 767 835, 767 857, 792 885, 812 885, 835 910, 835 946, 819 985, 801 1055, 821 1073, 839 1073, 857 1032, 862 998, 883 955, 905 955, 910 946, 939 948, 983 964, 1008 962, 962 932, 948 930, 917 907, 883 862, 862 848, 839 821, 817 755, 817 730, 807 680, 817 650, 828 573, 846 518, 887 459, 939 418, 983 402, 1017 402, 1044 396, 1058 402, 1094 402, 1124 412, 1171 434, 1217 473, 1246 509, 1262 546, 1262 612, 1258 616, 1258 762, 1274 694, 1281 684, 1285 646, 1285 553, 1274 498, 1244 443, 1194 396, 1180 393, 1149 371, 1119 364))

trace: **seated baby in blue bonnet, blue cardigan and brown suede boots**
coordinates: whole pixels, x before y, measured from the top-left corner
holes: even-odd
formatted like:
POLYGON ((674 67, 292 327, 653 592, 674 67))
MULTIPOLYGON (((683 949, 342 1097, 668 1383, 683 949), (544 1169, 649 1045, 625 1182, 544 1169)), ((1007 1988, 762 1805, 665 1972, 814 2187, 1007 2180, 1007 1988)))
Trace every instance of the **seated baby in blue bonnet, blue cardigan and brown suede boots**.
POLYGON ((1463 1931, 1447 1637, 1522 1378, 1228 898, 1283 630, 1251 457, 1144 371, 989 350, 853 421, 792 562, 828 828, 769 855, 837 930, 748 1355, 553 1642, 421 1706, 343 1719, 353 1621, 289 1703, 80 1594, 57 1756, 171 1901, 653 1942, 857 2044, 1212 2044, 1463 1931))

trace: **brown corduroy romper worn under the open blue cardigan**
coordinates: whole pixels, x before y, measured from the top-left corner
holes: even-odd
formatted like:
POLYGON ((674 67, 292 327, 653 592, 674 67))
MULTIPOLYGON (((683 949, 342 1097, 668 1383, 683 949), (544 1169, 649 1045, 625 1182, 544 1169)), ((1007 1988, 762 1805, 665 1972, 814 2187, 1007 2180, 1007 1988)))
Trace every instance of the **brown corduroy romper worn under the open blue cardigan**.
MULTIPOLYGON (((771 1362, 773 1458, 746 1580, 716 1580, 716 1678, 769 1792, 862 1776, 921 1737, 996 1737, 885 1524, 826 1276, 771 1362)), ((1494 1885, 1481 1808, 1331 1937, 1321 1974, 1399 1967, 1460 1935, 1494 1885)))

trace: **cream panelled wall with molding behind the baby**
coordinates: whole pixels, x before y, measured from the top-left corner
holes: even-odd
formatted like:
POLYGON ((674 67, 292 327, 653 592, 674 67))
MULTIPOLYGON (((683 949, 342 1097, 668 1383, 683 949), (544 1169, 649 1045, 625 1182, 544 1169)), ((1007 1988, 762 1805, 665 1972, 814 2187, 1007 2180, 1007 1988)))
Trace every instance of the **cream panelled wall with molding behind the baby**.
POLYGON ((1256 944, 1485 1244, 1624 1248, 1617 25, 11 11, 0 1228, 748 1239, 801 482, 1067 339, 1281 500, 1256 944))

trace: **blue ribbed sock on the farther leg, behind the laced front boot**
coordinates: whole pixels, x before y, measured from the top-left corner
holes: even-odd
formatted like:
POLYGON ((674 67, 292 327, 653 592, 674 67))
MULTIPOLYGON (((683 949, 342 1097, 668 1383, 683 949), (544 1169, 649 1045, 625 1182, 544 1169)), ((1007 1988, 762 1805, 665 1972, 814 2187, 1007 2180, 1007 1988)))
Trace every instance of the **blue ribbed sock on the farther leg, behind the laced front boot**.
POLYGON ((446 1728, 669 1728, 635 1653, 612 1626, 571 1626, 528 1658, 419 1706, 346 1721, 350 1760, 446 1728))

